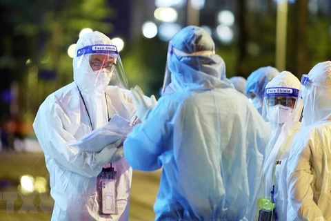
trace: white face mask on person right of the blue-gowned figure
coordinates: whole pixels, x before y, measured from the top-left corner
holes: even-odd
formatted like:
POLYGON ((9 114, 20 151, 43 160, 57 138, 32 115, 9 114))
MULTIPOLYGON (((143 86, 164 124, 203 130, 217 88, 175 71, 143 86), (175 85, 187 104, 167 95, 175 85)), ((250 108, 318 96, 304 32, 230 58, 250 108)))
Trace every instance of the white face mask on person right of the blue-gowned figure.
POLYGON ((268 107, 268 120, 274 124, 284 124, 292 115, 293 108, 277 104, 268 107))

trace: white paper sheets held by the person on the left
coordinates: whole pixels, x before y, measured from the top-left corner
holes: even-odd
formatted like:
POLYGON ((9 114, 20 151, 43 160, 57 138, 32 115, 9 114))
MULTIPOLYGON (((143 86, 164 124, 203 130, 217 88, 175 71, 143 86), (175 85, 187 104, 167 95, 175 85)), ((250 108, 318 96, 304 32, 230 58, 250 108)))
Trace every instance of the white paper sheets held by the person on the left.
POLYGON ((114 115, 112 119, 101 128, 92 131, 88 135, 68 142, 70 148, 77 148, 80 151, 100 152, 108 144, 112 144, 119 139, 125 140, 128 133, 132 131, 132 125, 128 120, 114 115))

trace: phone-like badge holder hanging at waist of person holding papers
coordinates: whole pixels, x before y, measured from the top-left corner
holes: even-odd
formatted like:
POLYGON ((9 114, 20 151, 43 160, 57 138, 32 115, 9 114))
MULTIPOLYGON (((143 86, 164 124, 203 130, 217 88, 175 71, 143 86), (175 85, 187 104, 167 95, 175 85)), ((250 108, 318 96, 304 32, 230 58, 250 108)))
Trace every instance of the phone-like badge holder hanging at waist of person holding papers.
POLYGON ((103 168, 97 177, 97 193, 100 215, 117 213, 115 191, 116 175, 117 171, 114 171, 112 164, 110 164, 110 168, 103 168))

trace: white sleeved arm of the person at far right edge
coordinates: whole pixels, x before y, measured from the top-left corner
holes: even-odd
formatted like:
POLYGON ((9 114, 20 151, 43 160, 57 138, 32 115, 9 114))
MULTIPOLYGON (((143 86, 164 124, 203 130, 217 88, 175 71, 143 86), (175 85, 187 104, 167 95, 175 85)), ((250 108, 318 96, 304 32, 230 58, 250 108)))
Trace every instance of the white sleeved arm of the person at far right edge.
POLYGON ((311 151, 314 150, 316 148, 310 134, 298 133, 294 137, 288 158, 288 203, 297 214, 288 214, 288 217, 298 217, 301 220, 324 220, 321 209, 313 200, 314 175, 312 175, 310 161, 312 160, 311 151))

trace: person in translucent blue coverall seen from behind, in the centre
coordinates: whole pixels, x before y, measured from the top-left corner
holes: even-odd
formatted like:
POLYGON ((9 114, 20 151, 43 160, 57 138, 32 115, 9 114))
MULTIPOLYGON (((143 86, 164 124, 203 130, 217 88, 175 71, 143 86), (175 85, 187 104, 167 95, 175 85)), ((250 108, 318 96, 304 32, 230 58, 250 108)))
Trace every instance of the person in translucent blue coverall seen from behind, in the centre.
POLYGON ((226 79, 202 28, 174 36, 167 69, 176 90, 163 94, 124 142, 133 169, 163 166, 156 220, 245 220, 258 192, 268 126, 226 79))

